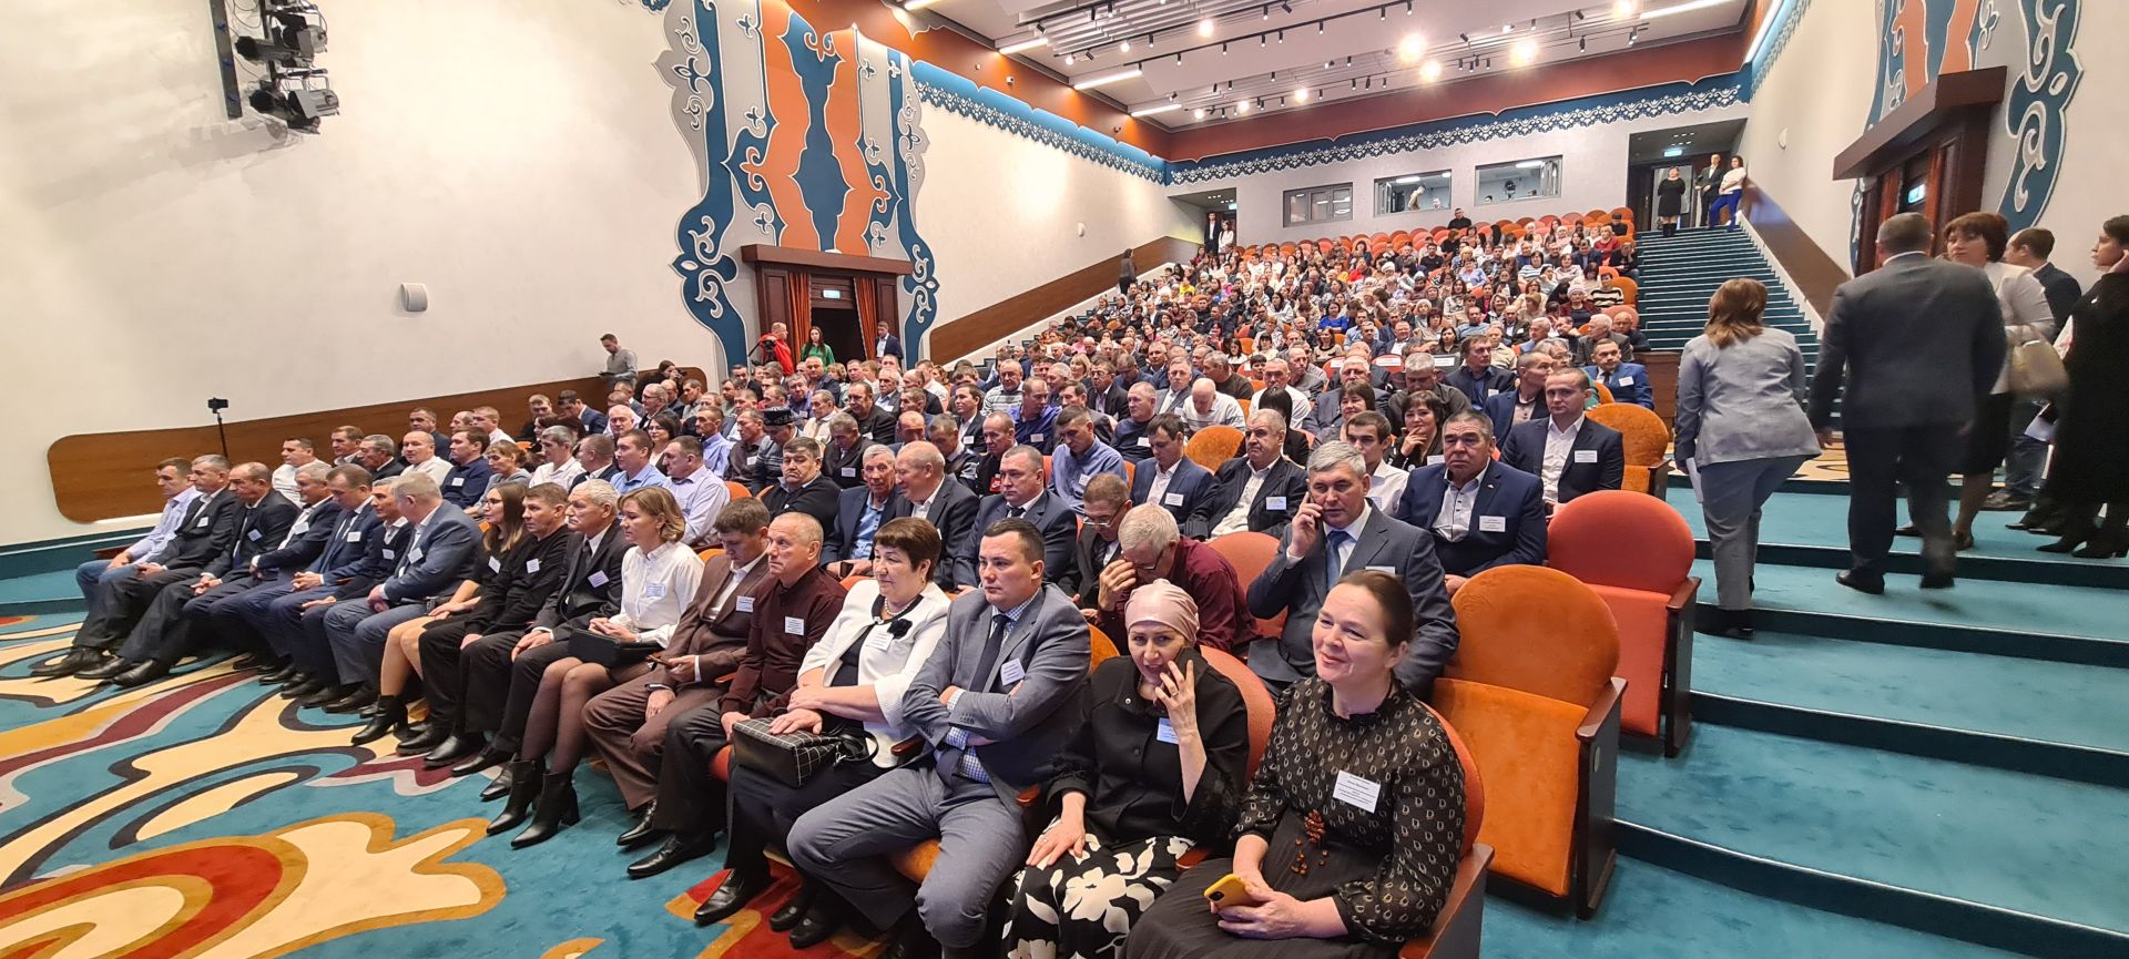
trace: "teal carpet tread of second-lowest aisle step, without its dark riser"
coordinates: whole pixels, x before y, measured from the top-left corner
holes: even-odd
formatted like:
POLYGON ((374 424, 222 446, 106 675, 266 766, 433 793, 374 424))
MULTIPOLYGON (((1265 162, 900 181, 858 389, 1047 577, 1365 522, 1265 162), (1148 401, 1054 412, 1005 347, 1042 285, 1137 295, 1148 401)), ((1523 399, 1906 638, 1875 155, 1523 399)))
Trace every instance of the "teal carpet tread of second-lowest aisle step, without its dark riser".
POLYGON ((1699 725, 1618 817, 1793 865, 2129 931, 2129 791, 1699 725))

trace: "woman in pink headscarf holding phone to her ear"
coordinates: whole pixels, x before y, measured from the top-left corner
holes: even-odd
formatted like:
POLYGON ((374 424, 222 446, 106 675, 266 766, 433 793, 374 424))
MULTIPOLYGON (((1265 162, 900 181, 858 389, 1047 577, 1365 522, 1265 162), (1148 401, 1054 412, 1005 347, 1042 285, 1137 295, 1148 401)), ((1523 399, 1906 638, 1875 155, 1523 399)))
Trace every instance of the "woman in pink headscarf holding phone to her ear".
POLYGON ((1124 627, 1124 655, 1094 668, 1088 723, 1043 789, 1056 819, 1016 878, 1013 959, 1122 955, 1177 859, 1220 855, 1235 827, 1250 717, 1196 649, 1196 602, 1152 581, 1130 591, 1124 627))

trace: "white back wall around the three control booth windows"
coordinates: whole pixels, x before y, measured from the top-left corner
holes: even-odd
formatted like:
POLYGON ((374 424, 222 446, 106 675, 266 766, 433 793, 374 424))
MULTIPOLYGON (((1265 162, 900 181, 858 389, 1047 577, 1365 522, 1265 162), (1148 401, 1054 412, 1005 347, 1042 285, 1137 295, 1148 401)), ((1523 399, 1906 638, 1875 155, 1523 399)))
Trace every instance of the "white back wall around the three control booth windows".
POLYGON ((1169 187, 1171 194, 1199 194, 1235 187, 1237 242, 1286 242, 1322 236, 1388 234, 1397 230, 1448 223, 1452 208, 1463 206, 1473 221, 1544 217, 1548 213, 1595 211, 1627 204, 1627 138, 1646 130, 1669 130, 1742 117, 1744 106, 1673 113, 1620 123, 1556 130, 1546 134, 1503 136, 1458 147, 1392 153, 1346 164, 1320 164, 1254 176, 1224 176, 1169 187), (1561 196, 1541 200, 1497 202, 1480 206, 1478 166, 1518 159, 1563 157, 1561 196), (1375 181, 1414 172, 1450 170, 1452 202, 1441 211, 1375 215, 1375 181), (1286 228, 1282 202, 1288 189, 1352 183, 1354 215, 1350 221, 1286 228))

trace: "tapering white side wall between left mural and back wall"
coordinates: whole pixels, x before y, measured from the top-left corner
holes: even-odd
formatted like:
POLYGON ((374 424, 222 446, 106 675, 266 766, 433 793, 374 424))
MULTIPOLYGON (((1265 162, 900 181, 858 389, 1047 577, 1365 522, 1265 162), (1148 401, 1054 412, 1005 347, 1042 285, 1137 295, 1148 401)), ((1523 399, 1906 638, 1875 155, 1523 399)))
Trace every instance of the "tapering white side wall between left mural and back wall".
POLYGON ((1160 236, 1203 236, 1196 208, 1143 176, 941 106, 924 106, 924 134, 915 217, 939 259, 941 323, 1160 236))

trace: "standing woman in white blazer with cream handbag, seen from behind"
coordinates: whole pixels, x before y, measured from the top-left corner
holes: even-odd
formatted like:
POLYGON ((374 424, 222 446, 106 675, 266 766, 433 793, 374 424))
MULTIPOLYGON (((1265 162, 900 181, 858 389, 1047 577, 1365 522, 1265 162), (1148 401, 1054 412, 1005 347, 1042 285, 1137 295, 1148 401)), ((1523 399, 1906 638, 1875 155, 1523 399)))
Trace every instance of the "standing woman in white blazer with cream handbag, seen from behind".
MULTIPOLYGON (((2048 289, 2040 285, 2033 270, 2003 262, 2008 245, 2010 223, 1995 213, 1967 213, 1944 225, 1944 259, 1978 268, 1995 285, 1997 304, 2003 308, 2006 344, 2018 349, 2027 340, 2050 342, 2054 338, 2054 310, 2048 308, 2048 289)), ((1995 470, 2010 453, 2012 410, 2016 406, 2018 396, 2010 389, 2010 357, 2006 355, 1995 387, 1974 410, 1967 453, 1959 464, 1959 519, 1952 521, 1952 540, 1959 549, 1974 549, 1974 517, 1988 502, 1995 470)), ((2025 423, 2018 423, 2016 432, 2025 432, 2025 423)))

